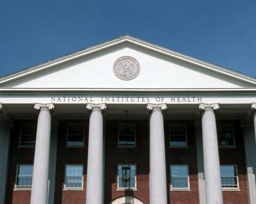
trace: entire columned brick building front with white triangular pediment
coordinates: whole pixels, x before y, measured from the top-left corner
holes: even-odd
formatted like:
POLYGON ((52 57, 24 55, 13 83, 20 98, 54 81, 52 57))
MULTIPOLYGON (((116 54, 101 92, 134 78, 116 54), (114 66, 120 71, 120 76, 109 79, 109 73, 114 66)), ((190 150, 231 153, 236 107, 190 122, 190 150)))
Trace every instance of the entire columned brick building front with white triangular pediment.
POLYGON ((256 203, 254 78, 125 36, 0 86, 0 203, 256 203))

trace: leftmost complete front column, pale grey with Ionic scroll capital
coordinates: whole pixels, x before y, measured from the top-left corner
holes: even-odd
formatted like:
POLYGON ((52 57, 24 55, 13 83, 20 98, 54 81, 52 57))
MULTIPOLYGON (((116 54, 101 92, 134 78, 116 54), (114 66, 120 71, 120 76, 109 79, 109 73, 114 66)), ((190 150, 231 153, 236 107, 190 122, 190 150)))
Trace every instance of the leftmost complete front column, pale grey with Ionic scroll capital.
POLYGON ((35 104, 40 110, 37 121, 36 147, 30 204, 46 204, 48 196, 51 113, 53 104, 35 104))

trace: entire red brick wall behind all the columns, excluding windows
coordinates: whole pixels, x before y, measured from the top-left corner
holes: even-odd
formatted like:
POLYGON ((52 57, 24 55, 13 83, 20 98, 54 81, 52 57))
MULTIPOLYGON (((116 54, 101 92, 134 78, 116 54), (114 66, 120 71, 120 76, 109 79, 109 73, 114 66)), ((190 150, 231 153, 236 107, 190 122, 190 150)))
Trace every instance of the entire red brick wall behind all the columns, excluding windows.
MULTIPOLYGON (((19 126, 21 121, 15 121, 11 135, 9 174, 7 183, 7 204, 25 204, 30 201, 30 191, 13 191, 17 164, 33 164, 34 148, 18 148, 19 126)), ((31 123, 31 121, 27 121, 31 123)), ((36 122, 36 121, 33 121, 36 122)), ((149 126, 148 121, 129 121, 137 125, 137 148, 128 149, 130 164, 137 165, 137 191, 117 191, 117 164, 124 162, 124 148, 117 148, 117 125, 124 121, 109 120, 106 123, 105 147, 105 203, 121 196, 134 196, 145 204, 149 204, 149 126)), ((234 122, 234 121, 233 121, 234 122)), ((22 121, 23 123, 23 121, 22 121)), ((178 121, 187 124, 188 148, 169 148, 169 123, 165 121, 166 148, 166 179, 169 203, 193 204, 199 203, 196 141, 194 121, 178 121), (189 165, 190 191, 170 191, 170 165, 189 165)), ((231 123, 229 121, 229 123, 231 123)), ((55 203, 78 204, 85 203, 86 198, 86 170, 89 121, 60 121, 57 150, 57 174, 55 182, 55 203), (67 123, 85 123, 85 147, 67 148, 67 123), (65 191, 65 164, 84 165, 84 186, 82 191, 65 191)), ((235 121, 236 148, 220 148, 221 164, 236 164, 239 174, 239 188, 241 191, 223 191, 225 204, 246 204, 248 201, 247 178, 244 159, 243 137, 239 121, 235 121)))

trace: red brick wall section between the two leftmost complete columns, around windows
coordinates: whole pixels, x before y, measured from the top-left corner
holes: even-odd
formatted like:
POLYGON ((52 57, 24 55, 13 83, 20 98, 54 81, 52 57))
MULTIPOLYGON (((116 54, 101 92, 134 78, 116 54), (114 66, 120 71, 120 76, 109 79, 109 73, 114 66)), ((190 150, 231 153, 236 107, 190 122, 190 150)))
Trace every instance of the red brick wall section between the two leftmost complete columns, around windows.
POLYGON ((60 121, 57 149, 57 167, 55 180, 55 203, 80 204, 85 203, 86 198, 86 171, 87 171, 87 151, 88 151, 88 126, 89 121, 60 121), (85 147, 71 148, 66 147, 67 124, 85 124, 85 147), (65 165, 82 164, 84 165, 83 190, 63 190, 65 181, 65 165))

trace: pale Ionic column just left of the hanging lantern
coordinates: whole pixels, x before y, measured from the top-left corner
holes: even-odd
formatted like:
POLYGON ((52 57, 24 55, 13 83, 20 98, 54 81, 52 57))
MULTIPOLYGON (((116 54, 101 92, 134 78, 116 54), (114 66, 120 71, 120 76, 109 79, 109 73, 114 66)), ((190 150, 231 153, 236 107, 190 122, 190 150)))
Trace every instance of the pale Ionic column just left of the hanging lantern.
POLYGON ((86 204, 103 204, 103 116, 105 104, 88 104, 91 111, 87 160, 86 204))

